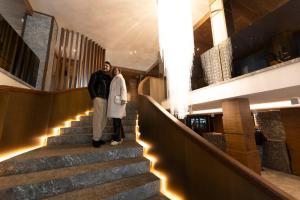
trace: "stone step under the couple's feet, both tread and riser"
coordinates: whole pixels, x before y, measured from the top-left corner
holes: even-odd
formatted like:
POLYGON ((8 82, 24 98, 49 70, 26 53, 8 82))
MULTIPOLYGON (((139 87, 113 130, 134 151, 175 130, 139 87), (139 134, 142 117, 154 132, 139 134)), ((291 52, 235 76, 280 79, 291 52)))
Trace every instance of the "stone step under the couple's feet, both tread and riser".
POLYGON ((73 167, 143 155, 143 148, 135 141, 122 145, 109 144, 94 148, 91 145, 44 147, 0 163, 0 176, 73 167))

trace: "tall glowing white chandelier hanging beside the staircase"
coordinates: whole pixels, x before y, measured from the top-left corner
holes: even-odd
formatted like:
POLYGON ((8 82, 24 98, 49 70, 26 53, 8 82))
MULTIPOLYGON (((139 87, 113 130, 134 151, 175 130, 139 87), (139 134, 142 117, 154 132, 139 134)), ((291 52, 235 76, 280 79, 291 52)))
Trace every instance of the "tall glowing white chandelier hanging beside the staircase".
POLYGON ((158 0, 160 54, 167 75, 170 110, 179 118, 188 111, 194 35, 190 0, 158 0))

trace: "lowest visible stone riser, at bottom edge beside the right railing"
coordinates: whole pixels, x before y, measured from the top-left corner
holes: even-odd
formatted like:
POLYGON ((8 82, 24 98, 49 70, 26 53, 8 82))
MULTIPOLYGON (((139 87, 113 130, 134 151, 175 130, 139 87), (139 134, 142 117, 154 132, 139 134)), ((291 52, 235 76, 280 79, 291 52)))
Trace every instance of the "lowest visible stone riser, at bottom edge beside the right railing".
POLYGON ((159 181, 153 181, 143 186, 133 188, 126 192, 115 194, 114 196, 105 198, 105 200, 117 200, 117 199, 134 199, 143 200, 148 199, 156 194, 159 194, 160 183, 159 181))

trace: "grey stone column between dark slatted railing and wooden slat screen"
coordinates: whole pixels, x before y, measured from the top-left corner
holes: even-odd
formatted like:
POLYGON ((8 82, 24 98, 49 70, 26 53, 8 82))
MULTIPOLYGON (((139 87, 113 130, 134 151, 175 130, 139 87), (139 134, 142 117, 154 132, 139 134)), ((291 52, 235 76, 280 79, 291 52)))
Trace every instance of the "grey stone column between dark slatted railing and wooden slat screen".
POLYGON ((37 89, 49 90, 58 27, 53 16, 33 12, 26 15, 23 39, 40 59, 37 89))

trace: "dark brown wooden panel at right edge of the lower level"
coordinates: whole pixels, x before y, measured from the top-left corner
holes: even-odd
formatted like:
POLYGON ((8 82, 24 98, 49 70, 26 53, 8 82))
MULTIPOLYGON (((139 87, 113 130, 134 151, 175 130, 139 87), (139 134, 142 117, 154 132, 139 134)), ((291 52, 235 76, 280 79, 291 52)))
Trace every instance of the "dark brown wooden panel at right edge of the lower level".
POLYGON ((300 108, 281 109, 280 115, 291 156, 292 172, 300 176, 300 108))

